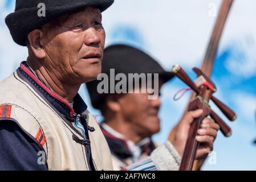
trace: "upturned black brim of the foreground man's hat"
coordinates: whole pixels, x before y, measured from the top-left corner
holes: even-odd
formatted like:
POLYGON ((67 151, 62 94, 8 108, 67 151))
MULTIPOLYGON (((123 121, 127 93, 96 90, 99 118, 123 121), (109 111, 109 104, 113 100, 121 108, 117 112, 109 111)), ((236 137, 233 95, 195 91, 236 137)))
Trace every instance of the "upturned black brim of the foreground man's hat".
POLYGON ((82 10, 86 6, 94 6, 100 9, 101 12, 112 5, 114 1, 83 1, 80 3, 65 4, 58 7, 47 7, 46 16, 38 16, 38 8, 27 8, 15 11, 6 16, 5 22, 10 30, 11 36, 15 43, 26 46, 26 36, 36 28, 51 22, 64 14, 82 10))

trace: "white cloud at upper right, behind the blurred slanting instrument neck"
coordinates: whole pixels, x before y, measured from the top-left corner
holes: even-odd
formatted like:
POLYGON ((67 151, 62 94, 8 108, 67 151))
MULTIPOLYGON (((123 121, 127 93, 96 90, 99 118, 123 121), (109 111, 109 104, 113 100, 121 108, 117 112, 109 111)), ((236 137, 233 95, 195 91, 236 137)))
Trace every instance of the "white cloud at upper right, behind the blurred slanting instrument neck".
MULTIPOLYGON (((167 69, 175 63, 192 67, 201 63, 215 22, 215 18, 209 16, 210 3, 219 7, 221 1, 119 0, 104 13, 105 29, 110 33, 120 23, 136 27, 146 42, 146 51, 167 69)), ((220 49, 234 38, 248 34, 256 38, 256 24, 252 23, 255 6, 253 0, 234 2, 220 49)), ((107 38, 107 44, 111 41, 107 38)))

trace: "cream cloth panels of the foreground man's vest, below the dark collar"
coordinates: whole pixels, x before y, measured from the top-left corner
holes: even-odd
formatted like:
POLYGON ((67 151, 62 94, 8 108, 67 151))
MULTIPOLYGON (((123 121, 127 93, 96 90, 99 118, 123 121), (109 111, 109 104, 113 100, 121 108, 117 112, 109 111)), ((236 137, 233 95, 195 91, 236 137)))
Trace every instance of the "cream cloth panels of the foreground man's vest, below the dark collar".
MULTIPOLYGON (((48 169, 88 170, 85 147, 73 139, 74 135, 83 139, 81 133, 74 130, 72 124, 42 97, 31 82, 21 76, 21 69, 25 71, 25 77, 32 78, 31 82, 39 81, 21 65, 13 75, 0 82, 0 106, 6 105, 10 109, 10 122, 17 122, 31 137, 40 138, 48 169)), ((38 89, 42 88, 39 86, 38 89)), ((111 154, 104 135, 94 117, 87 110, 84 113, 88 125, 95 128, 94 132, 89 132, 94 167, 96 170, 112 170, 111 154)))

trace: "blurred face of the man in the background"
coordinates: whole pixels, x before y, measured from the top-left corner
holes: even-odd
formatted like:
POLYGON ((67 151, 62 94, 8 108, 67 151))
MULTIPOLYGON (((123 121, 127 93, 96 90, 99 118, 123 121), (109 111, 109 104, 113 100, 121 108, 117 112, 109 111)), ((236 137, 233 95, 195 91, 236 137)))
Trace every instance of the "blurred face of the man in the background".
MULTIPOLYGON (((159 90, 162 82, 159 82, 159 90)), ((156 88, 157 89, 157 88, 156 88)), ((148 93, 127 93, 119 98, 121 114, 130 122, 133 130, 143 137, 151 137, 160 131, 160 97, 148 99, 148 93)))

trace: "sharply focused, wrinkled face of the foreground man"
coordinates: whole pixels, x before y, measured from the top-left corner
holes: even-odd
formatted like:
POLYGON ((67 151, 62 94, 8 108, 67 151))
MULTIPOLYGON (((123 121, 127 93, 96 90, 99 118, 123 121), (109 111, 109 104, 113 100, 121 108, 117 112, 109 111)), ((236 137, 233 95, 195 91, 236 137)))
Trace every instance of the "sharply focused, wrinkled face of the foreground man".
POLYGON ((101 12, 94 7, 60 17, 60 23, 43 27, 44 64, 60 81, 81 84, 101 72, 105 31, 101 12))

